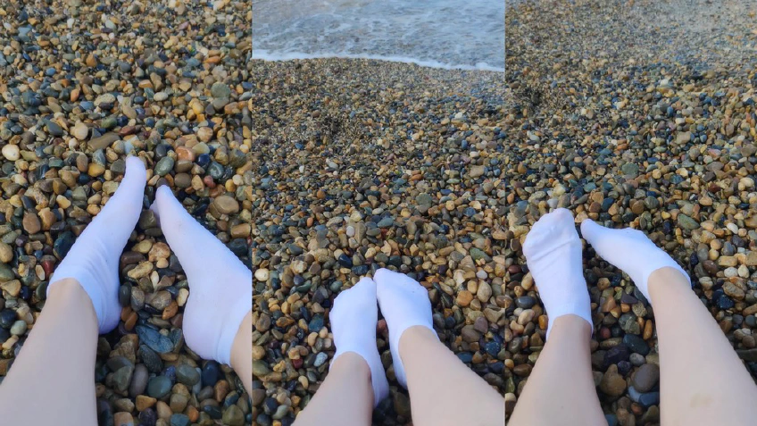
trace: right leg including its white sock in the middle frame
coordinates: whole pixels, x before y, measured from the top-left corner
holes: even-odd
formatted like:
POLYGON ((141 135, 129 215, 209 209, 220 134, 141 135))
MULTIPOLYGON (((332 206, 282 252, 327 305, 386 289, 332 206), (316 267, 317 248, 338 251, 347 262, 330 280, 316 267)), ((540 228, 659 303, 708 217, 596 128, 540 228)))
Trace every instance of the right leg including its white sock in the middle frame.
POLYGON ((404 274, 376 271, 395 376, 410 392, 412 423, 504 426, 504 398, 437 338, 428 292, 404 274))

